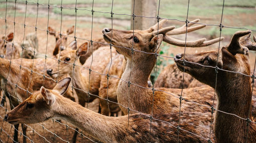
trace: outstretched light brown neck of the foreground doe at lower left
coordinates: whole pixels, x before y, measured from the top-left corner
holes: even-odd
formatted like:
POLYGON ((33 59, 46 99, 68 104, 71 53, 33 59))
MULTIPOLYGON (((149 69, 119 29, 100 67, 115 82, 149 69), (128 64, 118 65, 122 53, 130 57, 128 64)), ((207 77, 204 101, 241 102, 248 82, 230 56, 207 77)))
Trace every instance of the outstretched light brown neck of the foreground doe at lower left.
POLYGON ((103 116, 60 96, 54 104, 54 117, 67 120, 100 141, 118 142, 118 135, 126 132, 127 117, 103 116))

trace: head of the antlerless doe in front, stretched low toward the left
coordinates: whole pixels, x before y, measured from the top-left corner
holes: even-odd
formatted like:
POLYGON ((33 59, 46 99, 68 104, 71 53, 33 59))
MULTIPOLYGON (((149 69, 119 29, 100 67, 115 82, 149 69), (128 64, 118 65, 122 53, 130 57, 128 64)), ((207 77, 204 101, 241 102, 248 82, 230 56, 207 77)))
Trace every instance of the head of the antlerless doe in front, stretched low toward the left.
POLYGON ((70 77, 58 81, 53 90, 41 87, 40 91, 34 92, 29 98, 20 103, 5 116, 5 121, 10 124, 27 123, 34 124, 46 121, 53 117, 55 99, 63 95, 71 81, 70 77))

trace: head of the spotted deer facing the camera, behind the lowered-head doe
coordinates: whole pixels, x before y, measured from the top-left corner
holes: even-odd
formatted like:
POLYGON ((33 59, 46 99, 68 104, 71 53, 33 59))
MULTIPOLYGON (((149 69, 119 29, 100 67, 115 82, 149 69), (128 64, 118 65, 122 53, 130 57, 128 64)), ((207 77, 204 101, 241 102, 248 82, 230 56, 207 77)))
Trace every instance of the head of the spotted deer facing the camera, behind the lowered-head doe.
POLYGON ((62 76, 65 74, 71 74, 73 72, 73 63, 79 58, 79 56, 85 55, 88 51, 88 42, 83 43, 79 48, 76 48, 76 41, 70 43, 69 48, 60 52, 59 65, 56 61, 51 69, 47 70, 47 74, 53 78, 57 75, 62 76))

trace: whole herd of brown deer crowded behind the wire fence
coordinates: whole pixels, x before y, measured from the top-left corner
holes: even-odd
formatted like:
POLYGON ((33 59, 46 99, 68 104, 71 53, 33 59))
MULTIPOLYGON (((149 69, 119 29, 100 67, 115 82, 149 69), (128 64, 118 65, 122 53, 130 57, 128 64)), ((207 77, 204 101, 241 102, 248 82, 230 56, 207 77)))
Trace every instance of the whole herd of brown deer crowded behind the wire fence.
MULTIPOLYGON (((164 68, 151 88, 148 78, 162 41, 204 47, 224 39, 181 41, 170 36, 205 25, 192 26, 197 19, 187 27, 163 27, 166 21, 143 31, 104 28, 104 40, 79 47, 76 41, 68 45, 67 36, 60 36, 48 27, 56 38, 53 55, 59 60, 31 60, 25 59, 26 56, 17 59, 18 48, 11 43, 13 34, 4 37, 0 78, 3 95, 9 98, 12 109, 4 119, 14 124, 14 141, 18 141, 18 124, 55 118, 67 120, 102 142, 255 142, 256 96, 251 76, 246 76, 251 75, 248 51, 256 50, 256 43, 250 41, 251 32, 234 33, 230 43, 220 50, 177 54, 176 64, 164 68), (116 50, 99 44, 104 41, 116 50), (183 71, 188 73, 184 74, 184 82, 183 71), (57 83, 52 80, 60 78, 57 83), (84 107, 98 97, 99 113, 84 107), (211 106, 217 106, 213 109, 213 129, 211 106), (120 110, 123 116, 113 117, 120 110)), ((74 26, 66 35, 73 31, 74 26)), ((30 37, 34 40, 32 49, 37 49, 33 47, 36 38, 30 37)), ((32 55, 29 57, 35 58, 32 55)), ((22 128, 26 136, 27 127, 22 128)), ((76 135, 77 132, 73 142, 76 135)))

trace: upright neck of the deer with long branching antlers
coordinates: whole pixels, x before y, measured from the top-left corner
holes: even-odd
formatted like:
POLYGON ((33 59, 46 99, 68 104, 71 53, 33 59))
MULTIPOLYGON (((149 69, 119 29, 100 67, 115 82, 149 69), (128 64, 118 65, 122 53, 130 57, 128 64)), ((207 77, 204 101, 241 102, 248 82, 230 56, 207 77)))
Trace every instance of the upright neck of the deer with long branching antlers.
MULTIPOLYGON (((122 80, 119 81, 117 88, 117 100, 120 104, 130 107, 131 109, 150 113, 148 112, 147 106, 152 103, 152 90, 142 87, 147 87, 147 79, 154 65, 154 60, 148 62, 143 60, 131 61, 127 59, 126 69, 122 74, 122 80), (128 81, 131 82, 130 88, 129 83, 127 83, 128 81)), ((120 107, 125 114, 128 113, 126 108, 120 107)), ((133 111, 131 113, 133 113, 133 111)))

